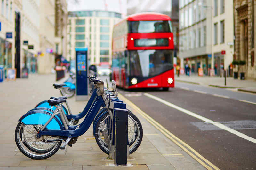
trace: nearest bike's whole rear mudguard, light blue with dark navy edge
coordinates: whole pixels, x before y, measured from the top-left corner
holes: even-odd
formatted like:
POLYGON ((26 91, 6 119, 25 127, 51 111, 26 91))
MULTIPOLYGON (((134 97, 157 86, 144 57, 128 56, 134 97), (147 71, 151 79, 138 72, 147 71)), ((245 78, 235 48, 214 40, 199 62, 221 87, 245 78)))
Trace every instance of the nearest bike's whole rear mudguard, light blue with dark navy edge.
MULTIPOLYGON (((23 124, 41 124, 44 125, 51 117, 51 113, 43 110, 34 110, 23 115, 19 121, 23 124)), ((48 130, 63 130, 60 120, 55 116, 46 126, 48 130)))

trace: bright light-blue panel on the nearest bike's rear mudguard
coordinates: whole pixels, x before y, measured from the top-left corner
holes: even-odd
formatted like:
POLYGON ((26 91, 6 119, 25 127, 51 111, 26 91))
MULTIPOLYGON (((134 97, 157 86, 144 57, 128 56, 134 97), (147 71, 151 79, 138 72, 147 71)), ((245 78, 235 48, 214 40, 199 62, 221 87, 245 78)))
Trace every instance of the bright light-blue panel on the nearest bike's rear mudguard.
MULTIPOLYGON (((24 117, 21 122, 24 124, 41 124, 44 125, 49 119, 50 115, 45 113, 34 113, 24 117)), ((46 126, 49 130, 61 130, 59 123, 52 119, 52 121, 46 126)))

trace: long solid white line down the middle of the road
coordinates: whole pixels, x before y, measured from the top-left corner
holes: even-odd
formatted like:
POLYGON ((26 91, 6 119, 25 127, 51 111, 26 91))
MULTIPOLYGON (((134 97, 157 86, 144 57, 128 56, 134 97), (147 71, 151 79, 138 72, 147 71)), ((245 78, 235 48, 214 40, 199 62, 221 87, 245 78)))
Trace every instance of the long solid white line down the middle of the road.
POLYGON ((176 105, 174 105, 174 104, 172 104, 172 103, 170 103, 170 102, 168 102, 168 101, 165 101, 165 100, 163 100, 163 99, 160 99, 159 97, 153 96, 153 95, 151 95, 151 94, 144 93, 144 95, 145 95, 145 96, 148 96, 148 97, 151 98, 151 99, 154 99, 154 100, 157 100, 157 101, 159 101, 159 102, 161 102, 161 103, 164 103, 164 104, 167 105, 167 106, 170 106, 170 107, 172 107, 172 108, 175 108, 175 109, 177 109, 177 110, 179 110, 179 111, 181 111, 181 112, 183 112, 183 113, 186 113, 186 114, 188 114, 188 115, 190 115, 190 116, 193 116, 193 117, 195 117, 195 118, 197 118, 197 119, 200 119, 200 120, 202 120, 202 121, 204 121, 204 122, 212 123, 213 125, 219 127, 220 129, 226 130, 226 131, 228 131, 228 132, 230 132, 230 133, 235 134, 236 136, 242 137, 242 138, 244 138, 244 139, 246 139, 246 140, 248 140, 248 141, 251 141, 251 142, 253 142, 253 143, 256 144, 256 139, 254 139, 254 138, 252 138, 252 137, 249 137, 249 136, 247 136, 247 135, 245 135, 245 134, 243 134, 243 133, 241 133, 241 132, 238 132, 238 131, 236 131, 236 130, 234 130, 234 129, 231 129, 231 128, 229 128, 229 127, 227 127, 227 126, 225 126, 225 125, 223 125, 223 124, 221 124, 221 123, 219 123, 219 122, 214 122, 214 121, 212 121, 212 120, 210 120, 210 119, 207 119, 207 118, 205 118, 205 117, 203 117, 203 116, 197 115, 196 113, 193 113, 193 112, 191 112, 191 111, 189 111, 189 110, 186 110, 186 109, 184 109, 184 108, 181 108, 181 107, 179 107, 179 106, 176 106, 176 105))

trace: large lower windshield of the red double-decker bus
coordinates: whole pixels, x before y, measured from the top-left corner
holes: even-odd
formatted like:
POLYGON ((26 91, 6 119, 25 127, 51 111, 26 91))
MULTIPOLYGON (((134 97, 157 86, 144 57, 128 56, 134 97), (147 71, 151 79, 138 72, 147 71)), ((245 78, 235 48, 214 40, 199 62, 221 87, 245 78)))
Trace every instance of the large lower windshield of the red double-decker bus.
POLYGON ((173 69, 172 50, 131 50, 130 75, 152 77, 173 69))

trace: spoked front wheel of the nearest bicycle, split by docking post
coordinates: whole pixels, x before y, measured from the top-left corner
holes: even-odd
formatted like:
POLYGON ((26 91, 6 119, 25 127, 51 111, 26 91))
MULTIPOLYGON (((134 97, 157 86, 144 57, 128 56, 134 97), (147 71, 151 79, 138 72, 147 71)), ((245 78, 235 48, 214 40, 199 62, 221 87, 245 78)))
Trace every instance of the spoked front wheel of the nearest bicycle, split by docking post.
MULTIPOLYGON (((95 140, 100 147, 100 149, 109 154, 108 143, 111 136, 110 126, 112 120, 110 115, 105 113, 96 125, 95 140)), ((128 112, 128 142, 129 142, 129 153, 132 154, 138 149, 143 137, 143 130, 139 119, 132 114, 131 111, 128 112)))

